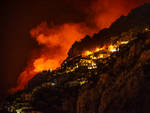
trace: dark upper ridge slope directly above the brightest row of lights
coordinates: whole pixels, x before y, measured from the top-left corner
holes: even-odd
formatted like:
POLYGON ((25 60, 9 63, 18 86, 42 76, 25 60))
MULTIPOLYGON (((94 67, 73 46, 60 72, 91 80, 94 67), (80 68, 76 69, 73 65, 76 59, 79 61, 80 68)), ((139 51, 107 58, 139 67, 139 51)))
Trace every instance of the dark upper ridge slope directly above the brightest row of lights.
POLYGON ((112 23, 109 29, 103 29, 96 33, 93 37, 85 37, 80 42, 75 42, 69 50, 68 55, 74 56, 81 54, 84 50, 89 50, 96 46, 102 46, 111 41, 111 38, 120 35, 123 32, 128 32, 129 29, 141 27, 150 24, 150 7, 149 4, 144 4, 136 9, 133 9, 127 16, 121 16, 112 23))

